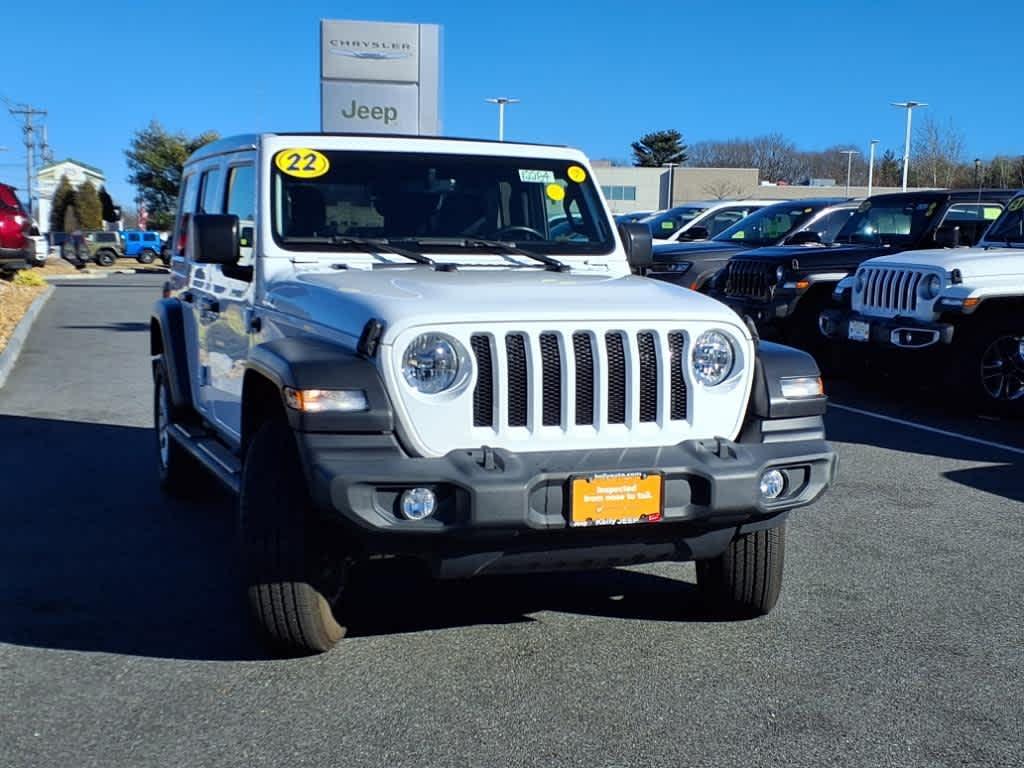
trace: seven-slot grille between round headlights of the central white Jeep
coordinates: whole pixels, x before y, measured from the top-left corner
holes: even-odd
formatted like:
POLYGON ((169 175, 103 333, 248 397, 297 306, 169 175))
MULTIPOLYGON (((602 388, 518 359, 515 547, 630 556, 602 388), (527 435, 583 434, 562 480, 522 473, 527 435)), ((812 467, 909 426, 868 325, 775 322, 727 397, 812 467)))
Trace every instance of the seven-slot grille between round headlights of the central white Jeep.
POLYGON ((686 338, 681 331, 664 336, 653 331, 545 332, 536 345, 530 342, 524 332, 472 335, 477 366, 473 426, 600 428, 629 425, 634 418, 639 424, 687 418, 682 365, 686 338), (636 370, 631 372, 633 360, 636 370), (507 372, 504 380, 498 375, 502 369, 507 372), (530 386, 532 376, 541 379, 539 390, 530 386), (539 391, 540 402, 531 401, 531 391, 539 391), (505 423, 500 424, 503 410, 505 423))

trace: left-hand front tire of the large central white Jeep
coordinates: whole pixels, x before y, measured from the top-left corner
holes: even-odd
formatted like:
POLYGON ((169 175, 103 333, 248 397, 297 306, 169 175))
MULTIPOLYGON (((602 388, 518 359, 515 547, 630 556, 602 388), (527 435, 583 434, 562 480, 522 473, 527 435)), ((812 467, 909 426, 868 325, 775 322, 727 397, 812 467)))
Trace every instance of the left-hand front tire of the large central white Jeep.
POLYGON ((260 427, 246 455, 239 502, 249 606, 287 654, 321 653, 345 635, 332 602, 348 563, 313 519, 295 435, 287 424, 260 427))

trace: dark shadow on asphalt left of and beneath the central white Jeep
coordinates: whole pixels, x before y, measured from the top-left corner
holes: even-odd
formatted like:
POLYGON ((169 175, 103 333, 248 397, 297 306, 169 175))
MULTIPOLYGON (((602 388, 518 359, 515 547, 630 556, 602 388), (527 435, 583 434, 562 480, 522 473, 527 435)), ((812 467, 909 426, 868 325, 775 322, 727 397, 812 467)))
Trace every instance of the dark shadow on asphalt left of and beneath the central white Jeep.
MULTIPOLYGON (((153 443, 150 429, 0 415, 0 642, 269 657, 242 597, 232 500, 216 490, 168 500, 153 443)), ((636 570, 435 583, 393 562, 356 569, 345 608, 354 636, 527 622, 543 610, 713 617, 692 584, 636 570)))

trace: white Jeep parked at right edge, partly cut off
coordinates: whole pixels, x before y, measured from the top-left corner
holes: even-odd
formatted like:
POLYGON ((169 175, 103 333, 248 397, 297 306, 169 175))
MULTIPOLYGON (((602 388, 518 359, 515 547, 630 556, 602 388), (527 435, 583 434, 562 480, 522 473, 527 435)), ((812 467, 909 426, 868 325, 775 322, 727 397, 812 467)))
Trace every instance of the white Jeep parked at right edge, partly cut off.
POLYGON ((826 337, 938 361, 971 402, 1024 415, 1024 195, 974 248, 864 261, 818 326, 826 337))

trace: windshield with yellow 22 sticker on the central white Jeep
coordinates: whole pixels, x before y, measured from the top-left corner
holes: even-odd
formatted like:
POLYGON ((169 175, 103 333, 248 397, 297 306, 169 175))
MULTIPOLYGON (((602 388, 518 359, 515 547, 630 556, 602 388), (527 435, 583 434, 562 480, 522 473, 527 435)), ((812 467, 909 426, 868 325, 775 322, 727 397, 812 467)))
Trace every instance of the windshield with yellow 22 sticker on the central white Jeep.
POLYGON ((418 250, 467 239, 569 255, 614 248, 589 174, 564 160, 285 150, 272 174, 273 237, 291 250, 359 250, 355 238, 418 250))

